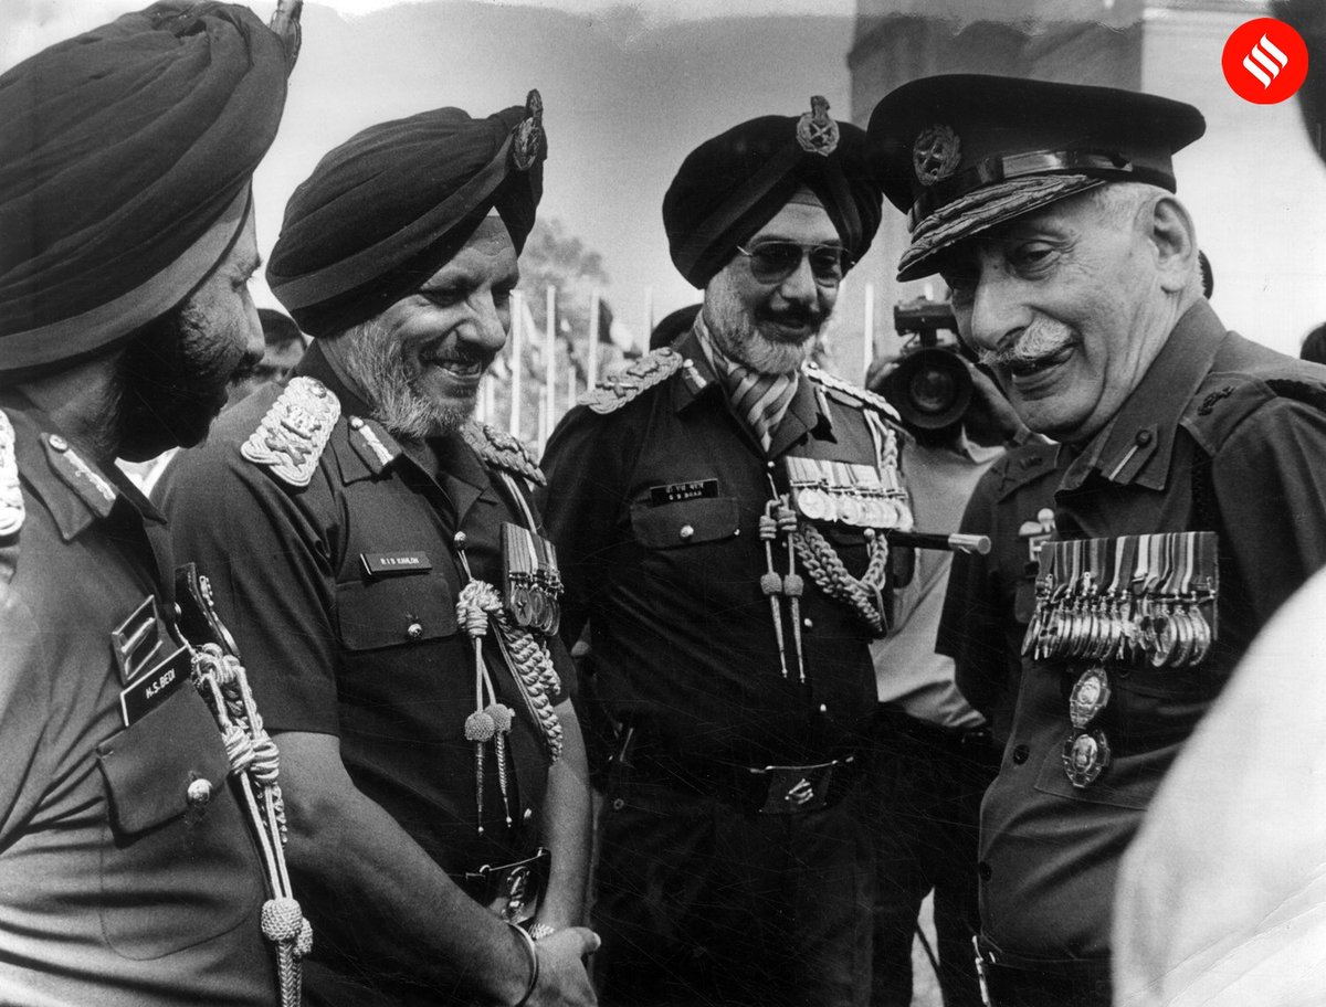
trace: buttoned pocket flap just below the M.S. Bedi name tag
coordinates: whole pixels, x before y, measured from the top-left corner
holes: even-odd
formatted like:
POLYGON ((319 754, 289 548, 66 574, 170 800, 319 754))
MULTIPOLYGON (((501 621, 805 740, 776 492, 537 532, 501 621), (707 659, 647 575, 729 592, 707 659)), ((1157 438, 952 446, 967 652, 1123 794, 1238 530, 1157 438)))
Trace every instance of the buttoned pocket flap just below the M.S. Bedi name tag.
POLYGON ((191 685, 97 746, 110 794, 110 819, 126 835, 188 810, 188 786, 206 779, 215 794, 229 762, 221 733, 191 685))

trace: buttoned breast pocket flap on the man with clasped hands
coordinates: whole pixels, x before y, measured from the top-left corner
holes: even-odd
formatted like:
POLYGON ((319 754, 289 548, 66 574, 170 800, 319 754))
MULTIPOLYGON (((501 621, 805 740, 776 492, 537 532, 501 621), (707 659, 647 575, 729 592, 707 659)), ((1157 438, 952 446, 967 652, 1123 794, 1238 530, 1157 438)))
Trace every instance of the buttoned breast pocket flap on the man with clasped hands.
POLYGON ((337 586, 337 620, 347 651, 438 640, 456 632, 456 599, 438 571, 337 586))

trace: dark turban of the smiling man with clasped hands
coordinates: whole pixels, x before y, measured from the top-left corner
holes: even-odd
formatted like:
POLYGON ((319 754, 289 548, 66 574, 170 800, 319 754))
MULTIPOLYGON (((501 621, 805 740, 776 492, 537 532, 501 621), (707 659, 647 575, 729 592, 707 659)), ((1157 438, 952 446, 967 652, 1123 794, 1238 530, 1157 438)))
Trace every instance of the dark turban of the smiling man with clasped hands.
POLYGON ((272 293, 300 329, 334 335, 418 289, 495 207, 520 252, 546 154, 538 91, 487 119, 435 109, 359 132, 290 197, 272 293))

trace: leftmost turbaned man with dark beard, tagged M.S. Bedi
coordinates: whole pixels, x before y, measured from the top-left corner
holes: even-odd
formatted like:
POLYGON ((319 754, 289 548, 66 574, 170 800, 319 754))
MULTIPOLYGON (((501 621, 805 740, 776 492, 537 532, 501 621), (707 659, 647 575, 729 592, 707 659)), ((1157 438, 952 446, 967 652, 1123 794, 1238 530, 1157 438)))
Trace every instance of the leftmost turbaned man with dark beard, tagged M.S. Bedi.
POLYGON ((8 1003, 298 996, 264 941, 272 912, 301 929, 265 902, 274 840, 191 681, 162 517, 114 465, 200 439, 261 346, 249 179, 292 58, 243 7, 160 3, 0 76, 8 1003))

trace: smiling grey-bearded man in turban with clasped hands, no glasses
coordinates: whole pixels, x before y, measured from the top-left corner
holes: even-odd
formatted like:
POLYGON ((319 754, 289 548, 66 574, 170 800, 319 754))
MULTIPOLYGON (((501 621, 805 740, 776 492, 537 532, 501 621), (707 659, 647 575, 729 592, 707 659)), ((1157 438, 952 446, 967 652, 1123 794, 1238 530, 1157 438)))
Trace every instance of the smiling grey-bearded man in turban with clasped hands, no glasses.
POLYGON ((593 1003, 542 476, 471 419, 545 156, 537 91, 328 154, 268 270, 318 338, 158 490, 180 553, 216 571, 281 747, 318 1003, 593 1003))

